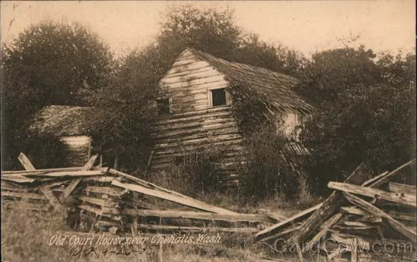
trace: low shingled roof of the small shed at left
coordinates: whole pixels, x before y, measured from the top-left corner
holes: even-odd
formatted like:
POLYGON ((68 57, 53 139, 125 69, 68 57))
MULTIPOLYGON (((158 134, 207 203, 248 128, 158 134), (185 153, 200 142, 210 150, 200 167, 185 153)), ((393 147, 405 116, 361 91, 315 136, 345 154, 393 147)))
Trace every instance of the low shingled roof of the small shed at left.
POLYGON ((49 105, 40 110, 31 125, 31 130, 57 136, 87 134, 92 107, 49 105))

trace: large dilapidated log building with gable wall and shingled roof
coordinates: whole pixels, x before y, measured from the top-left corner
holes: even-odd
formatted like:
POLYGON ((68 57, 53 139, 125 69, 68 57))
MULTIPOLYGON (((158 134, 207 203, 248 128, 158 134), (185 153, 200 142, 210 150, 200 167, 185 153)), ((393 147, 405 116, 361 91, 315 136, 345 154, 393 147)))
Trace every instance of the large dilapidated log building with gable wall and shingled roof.
MULTIPOLYGON (((284 119, 288 136, 313 110, 293 91, 297 84, 293 76, 187 48, 160 81, 167 96, 156 101, 158 119, 151 172, 169 170, 190 152, 220 151, 218 172, 224 180, 236 182, 238 165, 244 160, 243 136, 232 115, 233 101, 228 90, 231 81, 241 82, 267 96, 284 119)), ((294 140, 288 143, 288 153, 308 154, 294 140)))

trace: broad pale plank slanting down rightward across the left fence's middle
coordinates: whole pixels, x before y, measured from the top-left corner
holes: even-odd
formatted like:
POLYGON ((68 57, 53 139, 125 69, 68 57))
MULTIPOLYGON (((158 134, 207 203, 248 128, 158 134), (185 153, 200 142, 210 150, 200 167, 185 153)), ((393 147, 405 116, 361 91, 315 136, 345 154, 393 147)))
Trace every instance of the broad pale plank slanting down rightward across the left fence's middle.
POLYGON ((115 185, 115 186, 120 186, 124 189, 129 189, 131 191, 135 191, 138 193, 143 193, 145 195, 150 195, 156 198, 161 198, 164 200, 168 200, 171 202, 177 202, 179 204, 183 204, 187 207, 194 207, 196 209, 200 209, 200 210, 204 210, 204 211, 208 211, 208 212, 213 212, 213 213, 229 213, 229 214, 233 214, 236 212, 233 211, 229 211, 227 209, 222 209, 220 207, 215 207, 212 206, 210 204, 206 204, 202 201, 199 200, 195 200, 193 198, 183 198, 179 195, 172 195, 171 193, 166 193, 163 191, 157 191, 154 189, 148 189, 145 186, 140 186, 139 184, 126 184, 126 183, 122 183, 119 182, 117 180, 113 180, 113 182, 111 182, 111 184, 115 185))

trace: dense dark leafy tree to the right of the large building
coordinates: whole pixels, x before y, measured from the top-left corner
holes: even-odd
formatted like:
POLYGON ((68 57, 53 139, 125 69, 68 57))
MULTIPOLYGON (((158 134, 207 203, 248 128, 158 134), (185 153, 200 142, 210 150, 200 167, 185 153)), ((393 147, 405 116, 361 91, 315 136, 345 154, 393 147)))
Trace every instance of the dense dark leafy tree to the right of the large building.
POLYGON ((378 173, 413 157, 415 59, 363 46, 313 55, 298 89, 317 109, 303 139, 318 180, 342 179, 361 161, 378 173))

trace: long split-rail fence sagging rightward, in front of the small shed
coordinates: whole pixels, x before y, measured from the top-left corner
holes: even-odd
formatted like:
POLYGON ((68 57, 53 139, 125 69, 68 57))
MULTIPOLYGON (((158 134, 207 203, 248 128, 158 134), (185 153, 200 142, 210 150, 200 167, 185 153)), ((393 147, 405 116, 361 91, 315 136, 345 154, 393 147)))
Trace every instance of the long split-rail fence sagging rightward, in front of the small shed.
POLYGON ((236 213, 164 189, 112 168, 94 166, 97 155, 83 167, 35 169, 21 154, 25 171, 1 173, 4 201, 27 200, 36 210, 67 213, 81 231, 235 232, 254 234, 279 218, 236 213))

